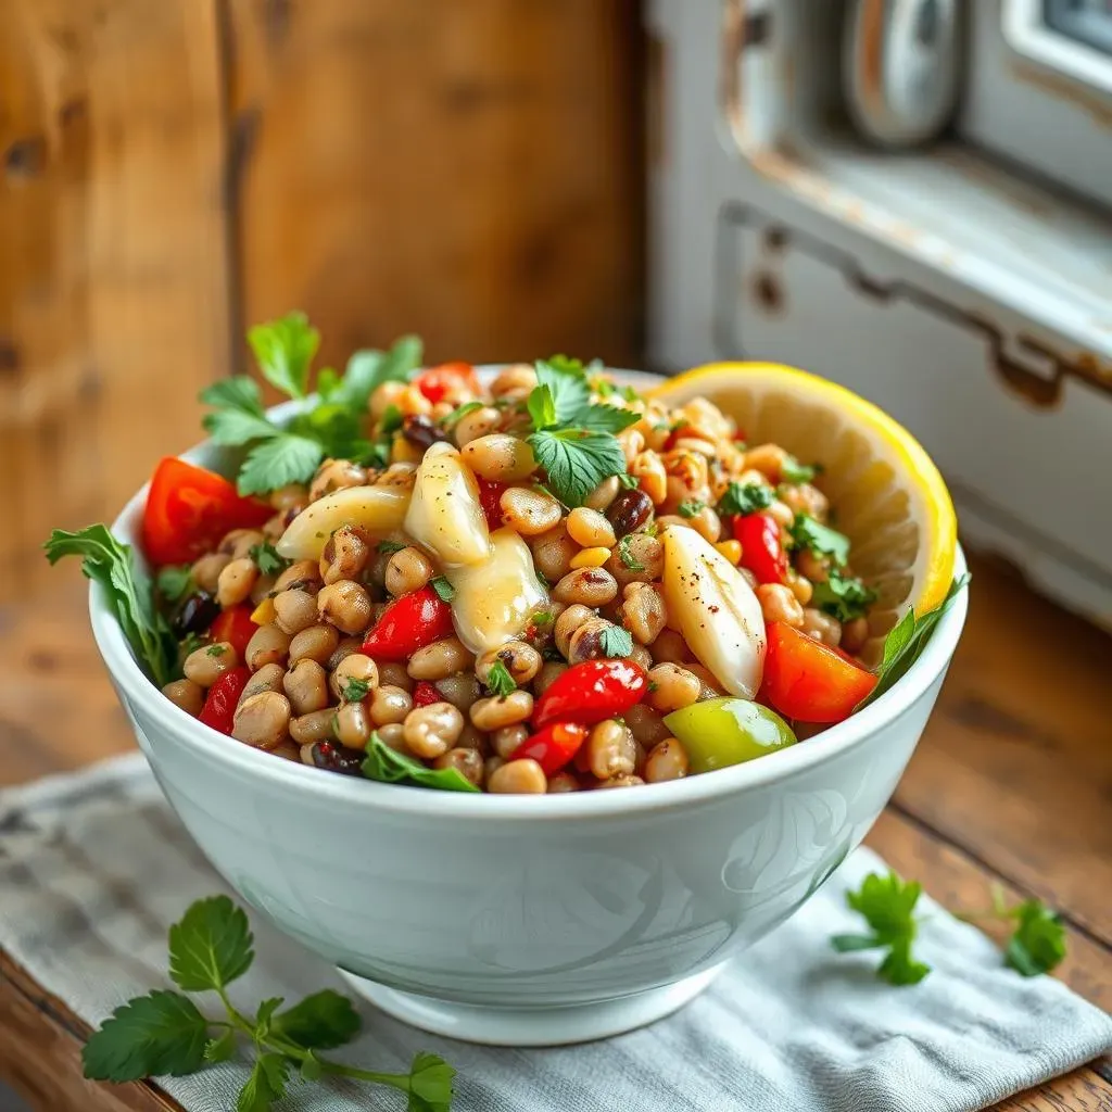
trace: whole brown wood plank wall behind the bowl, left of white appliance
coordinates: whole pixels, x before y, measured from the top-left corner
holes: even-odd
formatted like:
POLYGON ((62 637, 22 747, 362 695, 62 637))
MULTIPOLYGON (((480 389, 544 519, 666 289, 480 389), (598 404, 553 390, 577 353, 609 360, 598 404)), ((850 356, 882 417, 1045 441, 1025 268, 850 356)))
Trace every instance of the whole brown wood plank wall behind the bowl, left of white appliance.
POLYGON ((636 361, 637 0, 3 7, 0 602, 198 439, 255 320, 636 361))

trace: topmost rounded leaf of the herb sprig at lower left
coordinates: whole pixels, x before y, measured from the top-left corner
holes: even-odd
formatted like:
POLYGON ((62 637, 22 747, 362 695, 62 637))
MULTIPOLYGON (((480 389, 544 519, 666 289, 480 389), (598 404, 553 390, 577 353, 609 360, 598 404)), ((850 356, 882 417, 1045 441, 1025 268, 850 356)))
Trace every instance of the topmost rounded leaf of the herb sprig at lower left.
POLYGON ((255 960, 251 929, 227 896, 192 904, 170 927, 170 976, 187 992, 222 990, 255 960))

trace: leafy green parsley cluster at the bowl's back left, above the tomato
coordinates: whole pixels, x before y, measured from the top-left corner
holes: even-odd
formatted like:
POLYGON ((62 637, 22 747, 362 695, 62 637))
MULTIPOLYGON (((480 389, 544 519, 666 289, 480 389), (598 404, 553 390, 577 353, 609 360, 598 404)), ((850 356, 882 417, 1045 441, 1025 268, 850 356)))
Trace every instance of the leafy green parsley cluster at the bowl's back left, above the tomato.
MULTIPOLYGON (((304 312, 256 325, 247 339, 268 383, 296 400, 308 397, 320 334, 304 312)), ((407 381, 420 360, 415 336, 404 336, 389 351, 356 351, 342 377, 330 368, 320 371, 317 405, 284 425, 265 413, 258 383, 236 375, 201 390, 200 400, 212 407, 202 424, 215 443, 248 448, 239 471, 241 494, 305 483, 326 456, 368 460, 375 455, 364 429, 370 395, 383 383, 407 381)))

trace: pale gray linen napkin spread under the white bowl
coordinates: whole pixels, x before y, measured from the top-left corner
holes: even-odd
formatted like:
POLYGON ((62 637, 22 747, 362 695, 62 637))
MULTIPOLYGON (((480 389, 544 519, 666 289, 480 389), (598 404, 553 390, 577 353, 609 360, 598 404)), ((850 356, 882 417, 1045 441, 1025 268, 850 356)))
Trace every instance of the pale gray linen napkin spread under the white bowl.
MULTIPOLYGON (((847 887, 883 867, 858 850, 793 919, 737 959, 694 1003, 651 1027, 558 1050, 471 1046, 368 1006, 337 1052, 369 1069, 436 1051, 459 1071, 458 1112, 959 1112, 1063 1073, 1112 1048, 1112 1019, 1051 977, 1002 967, 975 929, 930 900, 913 989, 872 973, 875 954, 835 955, 860 930, 847 887)), ((139 756, 0 793, 0 946, 96 1024, 129 996, 169 984, 166 931, 216 873, 162 802, 139 756)), ((232 996, 297 996, 335 972, 252 915, 257 957, 232 996)), ((190 1112, 228 1112, 237 1061, 162 1086, 190 1112)), ((282 1108, 400 1108, 356 1083, 304 1085, 282 1108)))

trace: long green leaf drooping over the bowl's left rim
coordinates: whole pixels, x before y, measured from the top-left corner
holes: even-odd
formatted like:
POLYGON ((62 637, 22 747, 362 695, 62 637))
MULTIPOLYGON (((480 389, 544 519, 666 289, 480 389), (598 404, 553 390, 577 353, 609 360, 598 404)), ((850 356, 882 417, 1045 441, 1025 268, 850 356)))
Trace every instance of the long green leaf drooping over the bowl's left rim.
POLYGON ((157 686, 180 675, 177 639, 155 606, 150 580, 139 569, 130 545, 117 540, 107 525, 89 525, 77 533, 54 529, 42 547, 51 564, 63 556, 81 557, 81 570, 108 593, 123 636, 157 686))

